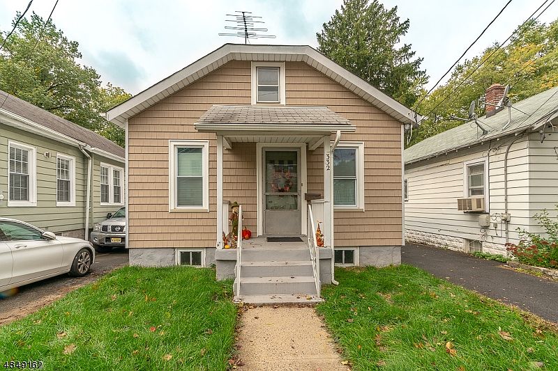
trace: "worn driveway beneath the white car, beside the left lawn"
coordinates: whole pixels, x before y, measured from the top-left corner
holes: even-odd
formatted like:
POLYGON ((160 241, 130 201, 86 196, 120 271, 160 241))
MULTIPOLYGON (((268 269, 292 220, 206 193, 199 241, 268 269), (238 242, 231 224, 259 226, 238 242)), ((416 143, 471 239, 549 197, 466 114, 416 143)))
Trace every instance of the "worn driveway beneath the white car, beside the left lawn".
POLYGON ((97 253, 93 270, 84 277, 67 274, 19 287, 13 297, 0 299, 0 326, 43 308, 70 291, 98 280, 104 274, 128 264, 128 250, 114 248, 110 253, 97 253))

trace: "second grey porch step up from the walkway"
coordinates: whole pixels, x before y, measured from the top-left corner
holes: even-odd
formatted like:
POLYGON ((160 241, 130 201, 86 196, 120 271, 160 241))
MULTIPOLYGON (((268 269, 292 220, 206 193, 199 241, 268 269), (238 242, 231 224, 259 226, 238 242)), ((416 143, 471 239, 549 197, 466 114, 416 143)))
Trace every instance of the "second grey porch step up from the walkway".
MULTIPOLYGON (((314 276, 243 277, 240 279, 240 290, 242 295, 317 294, 314 276)), ((234 294, 239 294, 236 292, 236 279, 234 294)))

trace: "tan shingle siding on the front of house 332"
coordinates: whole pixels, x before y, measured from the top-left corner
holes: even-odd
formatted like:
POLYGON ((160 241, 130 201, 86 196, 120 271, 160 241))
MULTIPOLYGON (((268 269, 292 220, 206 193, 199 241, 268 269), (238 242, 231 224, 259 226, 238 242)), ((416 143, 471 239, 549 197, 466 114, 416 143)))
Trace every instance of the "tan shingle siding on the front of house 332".
MULTIPOLYGON (((216 141, 193 124, 212 104, 250 104, 250 62, 232 61, 130 118, 129 246, 212 247, 216 243, 216 141), (205 139, 209 212, 168 212, 168 141, 205 139)), ((344 141, 365 142, 365 212, 335 212, 336 246, 402 242, 400 123, 306 63, 286 63, 286 103, 321 105, 356 125, 344 141)), ((308 191, 323 193, 323 150, 307 152, 308 191)), ((223 155, 223 198, 243 205, 255 234, 256 145, 234 143, 223 155)))

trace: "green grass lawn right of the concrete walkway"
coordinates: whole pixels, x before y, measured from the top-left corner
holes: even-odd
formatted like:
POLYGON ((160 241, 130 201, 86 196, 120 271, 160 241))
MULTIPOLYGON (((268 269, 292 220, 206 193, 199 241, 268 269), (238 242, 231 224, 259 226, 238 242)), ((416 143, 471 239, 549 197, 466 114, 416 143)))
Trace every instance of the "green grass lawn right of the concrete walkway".
POLYGON ((407 265, 335 276, 317 310, 353 370, 558 370, 558 335, 533 316, 407 265))

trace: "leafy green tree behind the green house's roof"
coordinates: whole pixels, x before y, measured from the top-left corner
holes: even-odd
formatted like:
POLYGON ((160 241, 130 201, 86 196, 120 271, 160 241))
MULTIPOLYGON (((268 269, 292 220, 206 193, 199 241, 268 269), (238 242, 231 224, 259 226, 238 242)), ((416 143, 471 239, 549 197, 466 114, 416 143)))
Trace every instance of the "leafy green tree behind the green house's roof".
POLYGON ((101 86, 96 70, 77 63, 82 58, 78 46, 35 13, 22 19, 0 52, 0 89, 123 146, 123 131, 100 113, 130 95, 101 86))

